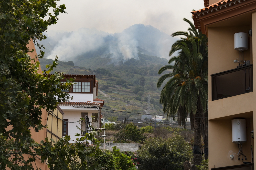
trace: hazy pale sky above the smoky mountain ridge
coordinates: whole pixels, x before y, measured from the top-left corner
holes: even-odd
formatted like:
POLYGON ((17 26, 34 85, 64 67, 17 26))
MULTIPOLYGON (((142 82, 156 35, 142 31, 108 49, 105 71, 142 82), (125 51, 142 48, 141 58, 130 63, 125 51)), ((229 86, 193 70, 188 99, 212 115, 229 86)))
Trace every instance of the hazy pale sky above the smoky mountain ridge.
POLYGON ((68 14, 60 14, 49 31, 96 28, 116 33, 141 23, 170 35, 186 31, 189 25, 182 19, 191 19, 193 9, 204 8, 203 0, 60 0, 59 4, 66 4, 68 14))

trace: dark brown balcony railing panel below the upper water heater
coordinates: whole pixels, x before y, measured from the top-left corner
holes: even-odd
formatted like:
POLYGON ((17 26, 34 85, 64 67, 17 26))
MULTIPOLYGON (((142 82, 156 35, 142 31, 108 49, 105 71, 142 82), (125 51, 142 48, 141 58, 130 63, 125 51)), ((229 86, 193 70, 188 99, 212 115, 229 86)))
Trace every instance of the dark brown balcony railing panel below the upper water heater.
POLYGON ((253 91, 252 64, 212 74, 211 78, 212 100, 218 100, 253 91))

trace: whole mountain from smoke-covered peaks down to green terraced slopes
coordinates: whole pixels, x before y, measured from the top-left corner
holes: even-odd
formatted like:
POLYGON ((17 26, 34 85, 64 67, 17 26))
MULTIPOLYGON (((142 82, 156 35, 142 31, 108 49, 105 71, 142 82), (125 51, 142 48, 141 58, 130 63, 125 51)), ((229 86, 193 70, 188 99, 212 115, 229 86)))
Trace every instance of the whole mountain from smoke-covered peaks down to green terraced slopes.
POLYGON ((57 55, 61 61, 54 71, 96 75, 98 97, 105 100, 103 109, 109 109, 102 112, 108 118, 141 118, 141 114, 135 113, 162 115, 157 73, 167 64, 165 58, 175 41, 170 35, 143 24, 115 34, 82 28, 47 35, 41 43, 49 59, 40 62, 43 69, 57 55))

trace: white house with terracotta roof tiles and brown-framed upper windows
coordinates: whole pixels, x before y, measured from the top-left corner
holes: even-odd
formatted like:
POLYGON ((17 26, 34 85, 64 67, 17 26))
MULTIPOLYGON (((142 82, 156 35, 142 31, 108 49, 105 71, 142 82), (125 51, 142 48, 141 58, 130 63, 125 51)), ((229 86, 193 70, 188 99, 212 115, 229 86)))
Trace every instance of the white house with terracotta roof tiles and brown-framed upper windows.
POLYGON ((82 126, 79 123, 81 117, 88 116, 92 126, 100 128, 101 106, 103 106, 104 100, 96 98, 98 96, 98 81, 95 80, 95 75, 64 75, 64 77, 61 82, 75 77, 76 84, 67 91, 73 99, 58 104, 64 113, 62 136, 69 135, 71 140, 75 140, 77 133, 83 135, 83 131, 86 131, 86 123, 83 121, 82 126), (92 120, 92 116, 95 120, 92 120))

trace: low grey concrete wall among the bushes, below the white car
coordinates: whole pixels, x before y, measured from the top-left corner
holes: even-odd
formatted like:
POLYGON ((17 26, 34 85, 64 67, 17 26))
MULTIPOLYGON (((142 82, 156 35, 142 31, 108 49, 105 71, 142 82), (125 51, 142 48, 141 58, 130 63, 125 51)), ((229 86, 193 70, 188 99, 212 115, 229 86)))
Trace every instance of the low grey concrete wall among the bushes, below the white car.
MULTIPOLYGON (((136 152, 139 150, 138 143, 106 143, 105 149, 113 151, 113 148, 116 146, 117 149, 122 151, 136 152)), ((101 143, 100 149, 104 149, 104 143, 101 143)))

